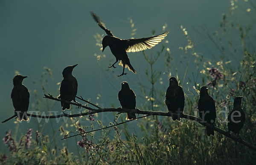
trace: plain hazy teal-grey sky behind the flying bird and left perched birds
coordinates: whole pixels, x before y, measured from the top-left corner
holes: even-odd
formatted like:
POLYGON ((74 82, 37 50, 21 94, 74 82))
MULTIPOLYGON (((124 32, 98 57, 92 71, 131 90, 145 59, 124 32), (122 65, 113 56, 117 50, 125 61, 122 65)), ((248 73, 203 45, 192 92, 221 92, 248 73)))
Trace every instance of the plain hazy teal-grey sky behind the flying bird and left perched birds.
MULTIPOLYGON (((250 20, 255 15, 255 10, 245 12, 251 6, 249 2, 239 0, 235 3, 239 4, 237 9, 240 13, 239 21, 250 20)), ((161 34, 163 25, 167 24, 166 30, 170 32, 166 39, 151 50, 146 50, 145 53, 156 54, 164 44, 165 48, 169 48, 172 52, 174 61, 177 61, 179 77, 183 78, 189 58, 181 56, 182 52, 179 50, 180 46, 187 45, 187 39, 180 26, 183 25, 186 28, 202 55, 206 58, 219 57, 220 54, 215 50, 215 45, 201 34, 202 27, 207 29, 209 34, 219 31, 223 13, 228 13, 230 8, 230 0, 1 0, 0 103, 2 115, 0 118, 4 120, 14 114, 10 95, 13 88, 12 79, 17 73, 15 71, 23 76, 29 76, 23 81, 30 92, 29 111, 41 108, 47 112, 48 107, 43 98, 41 81, 44 81, 45 91, 57 96, 58 83, 62 80, 62 70, 74 64, 79 64, 73 70, 73 75, 78 80, 77 95, 85 99, 90 98, 90 101, 99 103, 102 107, 119 107, 117 93, 121 89, 121 82, 128 81, 137 95, 137 106, 140 107, 143 104, 145 99, 138 83, 142 82, 146 87, 150 87, 145 75, 149 65, 145 62, 143 53, 128 53, 131 64, 137 70, 136 75, 126 70, 127 75, 116 77, 122 73, 122 67, 116 65, 115 69, 108 69, 111 62, 114 62, 114 56, 109 48, 102 53, 96 46, 94 35, 105 35, 105 32, 92 19, 90 11, 94 11, 103 20, 114 36, 122 39, 131 38, 130 19, 137 29, 133 36, 135 38, 149 37, 152 35, 152 30, 155 34, 161 34), (101 58, 98 61, 99 55, 101 58), (180 60, 183 60, 182 64, 180 60), (52 78, 43 74, 46 72, 45 67, 51 70, 52 78), (35 90, 37 96, 35 96, 35 90), (36 103, 36 97, 39 105, 36 103)), ((158 83, 157 87, 167 89, 169 78, 168 74, 164 74, 166 70, 164 60, 164 54, 160 55, 159 60, 154 64, 154 69, 162 72, 160 78, 163 84, 158 83)), ((192 73, 196 72, 198 70, 195 69, 195 64, 190 64, 187 75, 191 78, 192 73)), ((184 80, 184 83, 186 82, 188 82, 187 77, 184 80)), ((186 93, 186 90, 184 92, 186 93)), ((52 107, 51 110, 61 112, 60 103, 49 101, 49 105, 52 107)), ((104 114, 104 120, 112 121, 113 113, 104 114)), ((17 123, 14 122, 15 119, 12 119, 0 125, 3 130, 0 137, 4 137, 6 131, 15 130, 17 123)), ((43 132, 47 134, 47 128, 51 127, 50 122, 41 121, 38 124, 36 119, 32 119, 30 123, 20 123, 18 132, 25 134, 28 128, 36 130, 42 125, 45 128, 43 132)), ((54 123, 54 125, 55 131, 58 131, 60 123, 54 123)), ((2 148, 3 144, 0 143, 0 146, 2 148)))

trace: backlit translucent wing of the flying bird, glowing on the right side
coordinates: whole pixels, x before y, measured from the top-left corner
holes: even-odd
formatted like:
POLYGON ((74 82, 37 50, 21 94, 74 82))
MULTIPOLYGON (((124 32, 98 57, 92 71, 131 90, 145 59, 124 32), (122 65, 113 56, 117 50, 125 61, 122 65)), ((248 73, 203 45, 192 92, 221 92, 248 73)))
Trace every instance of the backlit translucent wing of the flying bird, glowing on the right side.
POLYGON ((150 49, 161 42, 164 37, 167 36, 169 31, 164 32, 163 34, 157 36, 151 36, 148 38, 141 39, 128 39, 127 45, 125 47, 126 52, 139 52, 142 50, 150 49))

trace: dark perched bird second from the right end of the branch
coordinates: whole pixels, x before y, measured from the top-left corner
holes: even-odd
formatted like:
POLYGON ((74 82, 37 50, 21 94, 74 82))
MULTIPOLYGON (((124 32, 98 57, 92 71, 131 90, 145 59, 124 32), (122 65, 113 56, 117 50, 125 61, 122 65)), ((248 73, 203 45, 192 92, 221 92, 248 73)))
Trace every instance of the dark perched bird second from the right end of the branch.
MULTIPOLYGON (((199 115, 203 122, 207 122, 214 126, 216 118, 215 102, 212 97, 208 94, 208 88, 206 86, 201 87, 200 97, 198 100, 199 115)), ((211 134, 214 136, 214 129, 206 127, 207 136, 211 134)))

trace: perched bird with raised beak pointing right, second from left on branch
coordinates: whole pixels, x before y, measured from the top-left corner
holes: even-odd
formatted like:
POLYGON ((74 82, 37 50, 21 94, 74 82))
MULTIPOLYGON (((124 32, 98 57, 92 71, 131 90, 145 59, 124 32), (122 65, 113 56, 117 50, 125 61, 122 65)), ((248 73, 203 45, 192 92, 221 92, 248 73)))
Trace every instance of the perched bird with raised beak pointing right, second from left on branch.
MULTIPOLYGON (((74 67, 78 64, 73 66, 67 66, 62 72, 63 80, 61 81, 61 88, 60 88, 60 95, 58 96, 59 99, 65 101, 75 101, 76 103, 80 104, 76 101, 76 93, 77 93, 77 80, 72 75, 72 71, 74 67)), ((70 104, 61 101, 62 111, 65 109, 70 109, 70 104)))

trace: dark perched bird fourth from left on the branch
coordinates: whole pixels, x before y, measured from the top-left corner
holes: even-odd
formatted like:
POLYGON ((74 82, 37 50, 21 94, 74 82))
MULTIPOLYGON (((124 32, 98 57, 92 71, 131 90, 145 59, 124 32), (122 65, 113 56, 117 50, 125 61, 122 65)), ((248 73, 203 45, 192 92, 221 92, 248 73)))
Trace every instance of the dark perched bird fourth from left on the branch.
POLYGON ((169 79, 169 87, 166 90, 165 103, 172 115, 172 120, 180 121, 180 114, 183 113, 185 96, 182 87, 179 86, 175 77, 169 79), (177 114, 177 115, 176 115, 177 114))

